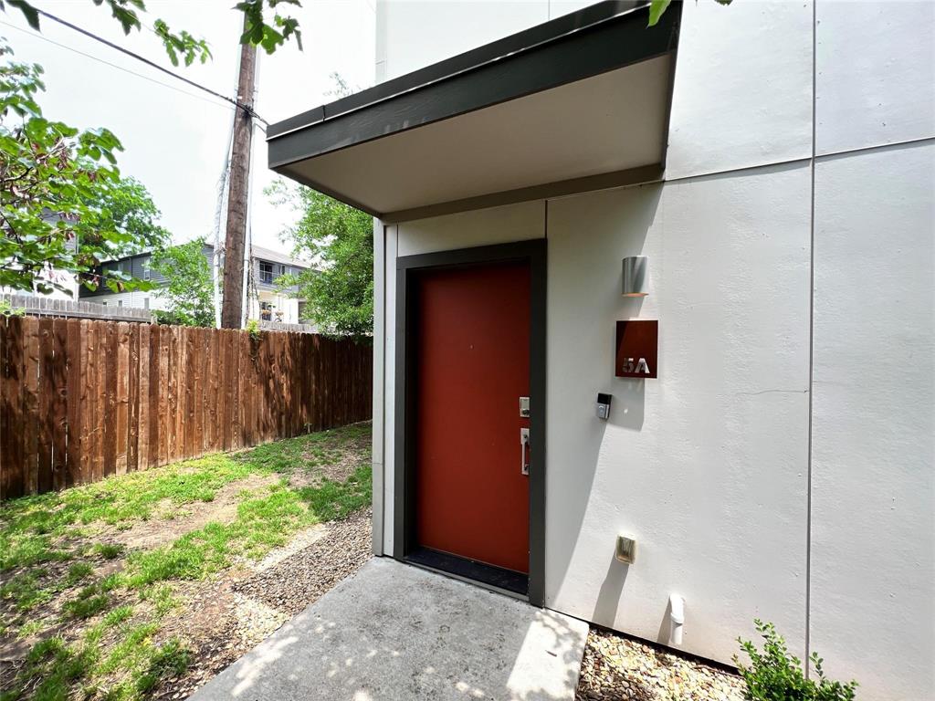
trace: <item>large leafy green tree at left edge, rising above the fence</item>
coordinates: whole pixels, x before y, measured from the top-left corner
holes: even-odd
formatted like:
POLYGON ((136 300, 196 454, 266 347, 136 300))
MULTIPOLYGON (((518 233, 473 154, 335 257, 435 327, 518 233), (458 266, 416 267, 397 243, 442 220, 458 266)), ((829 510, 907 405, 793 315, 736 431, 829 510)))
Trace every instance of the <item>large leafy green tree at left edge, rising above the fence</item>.
MULTIPOLYGON (((0 57, 10 54, 0 42, 0 57)), ((92 289, 145 288, 120 271, 101 277, 94 270, 134 243, 132 228, 104 205, 121 199, 121 143, 107 129, 79 131, 46 119, 36 102, 45 90, 41 76, 37 64, 0 64, 0 286, 67 291, 51 278, 59 270, 92 289)))

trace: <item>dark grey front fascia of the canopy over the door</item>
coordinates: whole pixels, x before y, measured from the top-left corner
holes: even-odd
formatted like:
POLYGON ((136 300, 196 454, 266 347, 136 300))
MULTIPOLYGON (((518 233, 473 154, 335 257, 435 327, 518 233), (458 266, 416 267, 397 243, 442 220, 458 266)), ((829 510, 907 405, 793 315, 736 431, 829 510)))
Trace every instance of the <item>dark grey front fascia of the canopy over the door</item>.
POLYGON ((295 179, 296 162, 672 52, 681 11, 648 27, 644 3, 599 3, 316 107, 269 127, 269 167, 295 179))

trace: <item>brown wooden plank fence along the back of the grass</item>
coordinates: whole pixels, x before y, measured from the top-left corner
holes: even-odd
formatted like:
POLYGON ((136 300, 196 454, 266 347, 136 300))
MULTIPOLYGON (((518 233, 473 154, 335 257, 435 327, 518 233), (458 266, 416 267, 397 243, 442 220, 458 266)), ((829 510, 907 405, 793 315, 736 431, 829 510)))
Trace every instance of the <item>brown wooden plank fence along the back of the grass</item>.
POLYGON ((366 421, 371 357, 311 334, 0 318, 0 499, 366 421))

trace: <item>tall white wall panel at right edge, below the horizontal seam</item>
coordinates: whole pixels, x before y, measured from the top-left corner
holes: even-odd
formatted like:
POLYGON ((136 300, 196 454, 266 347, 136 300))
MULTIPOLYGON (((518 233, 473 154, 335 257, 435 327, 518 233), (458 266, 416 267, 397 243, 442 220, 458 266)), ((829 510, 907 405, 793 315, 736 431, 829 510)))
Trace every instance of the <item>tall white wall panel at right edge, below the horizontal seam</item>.
POLYGON ((935 698, 935 146, 815 174, 813 649, 935 698))

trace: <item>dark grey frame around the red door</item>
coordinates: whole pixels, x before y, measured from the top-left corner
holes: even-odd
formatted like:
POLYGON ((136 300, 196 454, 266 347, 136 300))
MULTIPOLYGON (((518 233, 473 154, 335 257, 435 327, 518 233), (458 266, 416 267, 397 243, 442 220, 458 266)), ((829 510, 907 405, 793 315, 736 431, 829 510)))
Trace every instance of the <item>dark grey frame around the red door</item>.
MULTIPOLYGON (((396 259, 396 432, 393 498, 393 556, 405 560, 415 542, 415 460, 412 452, 415 378, 410 338, 414 327, 411 278, 426 268, 465 267, 527 261, 530 269, 529 309, 529 603, 542 606, 545 594, 545 238, 472 249, 403 256, 396 259)), ((456 410, 456 408, 450 408, 456 410)), ((519 412, 519 406, 516 408, 519 412)), ((517 451, 519 445, 517 442, 517 451)))

